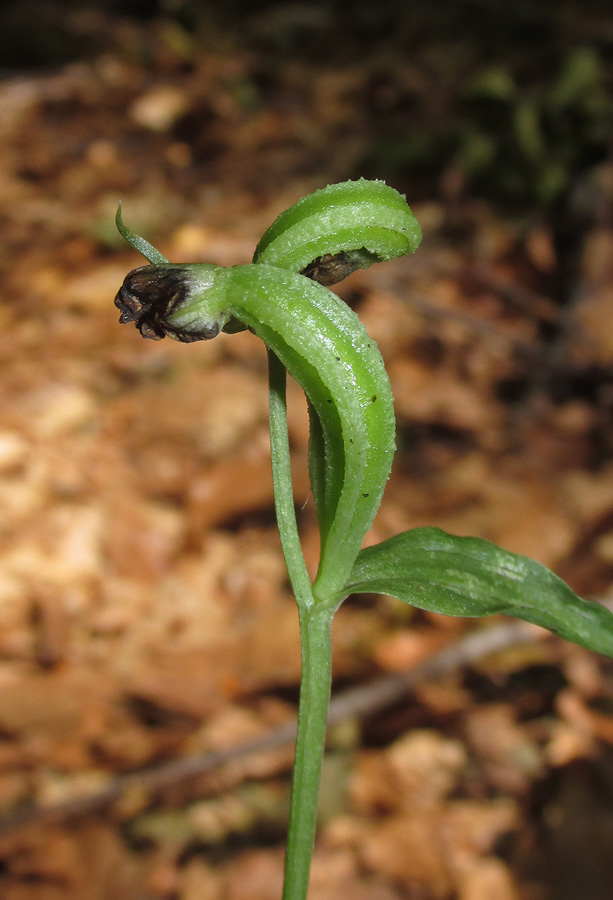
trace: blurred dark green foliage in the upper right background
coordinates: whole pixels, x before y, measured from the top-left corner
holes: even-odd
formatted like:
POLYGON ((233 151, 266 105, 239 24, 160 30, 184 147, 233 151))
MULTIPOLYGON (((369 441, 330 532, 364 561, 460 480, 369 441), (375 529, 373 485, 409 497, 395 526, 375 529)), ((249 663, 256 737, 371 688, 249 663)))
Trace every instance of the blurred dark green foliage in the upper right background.
POLYGON ((510 66, 482 70, 464 92, 456 159, 477 187, 556 209, 607 158, 613 104, 590 47, 566 55, 549 78, 522 85, 510 66))

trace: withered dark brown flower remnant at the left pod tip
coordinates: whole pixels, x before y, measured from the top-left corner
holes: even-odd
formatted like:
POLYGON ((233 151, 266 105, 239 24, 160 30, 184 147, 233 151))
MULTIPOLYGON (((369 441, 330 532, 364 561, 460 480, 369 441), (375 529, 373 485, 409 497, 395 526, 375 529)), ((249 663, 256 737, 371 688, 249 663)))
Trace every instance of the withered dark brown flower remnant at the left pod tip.
POLYGON ((189 271, 181 266, 142 266, 128 272, 115 297, 122 325, 134 322, 142 337, 159 341, 163 337, 191 343, 206 340, 219 333, 219 327, 173 325, 172 313, 189 299, 191 282, 189 271))

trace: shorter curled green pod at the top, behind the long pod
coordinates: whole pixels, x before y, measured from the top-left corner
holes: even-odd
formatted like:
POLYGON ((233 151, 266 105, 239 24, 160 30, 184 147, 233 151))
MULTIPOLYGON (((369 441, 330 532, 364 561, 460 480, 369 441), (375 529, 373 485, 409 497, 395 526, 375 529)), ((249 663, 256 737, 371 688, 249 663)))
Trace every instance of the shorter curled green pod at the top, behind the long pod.
POLYGON ((253 262, 334 284, 355 269, 412 253, 420 241, 421 228, 402 194, 361 178, 328 185, 282 212, 253 262))

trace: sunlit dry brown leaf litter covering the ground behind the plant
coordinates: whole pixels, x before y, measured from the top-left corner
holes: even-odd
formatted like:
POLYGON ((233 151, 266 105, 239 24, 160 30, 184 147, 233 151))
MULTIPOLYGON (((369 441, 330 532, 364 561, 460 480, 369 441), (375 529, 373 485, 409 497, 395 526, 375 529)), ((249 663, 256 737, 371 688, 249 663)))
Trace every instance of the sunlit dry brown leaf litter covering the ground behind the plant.
MULTIPOLYGON (((164 58, 162 74, 109 55, 0 88, 3 812, 250 740, 289 717, 297 685, 262 350, 249 335, 185 348, 120 329, 112 298, 137 260, 100 238, 111 240, 121 197, 126 219, 154 229, 170 258, 248 261, 279 210, 359 158, 366 123, 351 97, 362 76, 305 79, 296 64, 285 76, 292 102, 277 96, 248 115, 228 84, 253 60, 209 54, 188 73, 164 58), (331 142, 337 155, 326 165, 331 142)), ((591 466, 591 436, 606 427, 603 413, 578 398, 517 419, 500 398, 497 383, 518 365, 514 347, 534 341, 537 326, 496 288, 521 274, 513 228, 479 208, 471 217, 489 282, 466 276, 432 203, 421 216, 424 262, 341 287, 384 353, 401 429, 370 540, 438 524, 602 591, 613 571, 613 481, 610 464, 591 466)), ((585 253, 573 352, 588 364, 610 362, 610 245, 603 227, 585 253)), ((547 271, 547 234, 535 229, 525 246, 547 271)), ((304 406, 293 397, 297 499, 314 566, 304 406)), ((348 607, 335 632, 338 678, 410 666, 463 628, 385 600, 348 607)), ((470 686, 452 678, 424 685, 412 712, 390 715, 389 746, 364 749, 354 736, 348 796, 322 831, 313 900, 540 900, 498 848, 505 835, 534 835, 522 803, 536 779, 613 742, 606 704, 598 710, 610 685, 599 665, 582 670, 586 658, 568 651, 567 686, 532 721, 512 704, 475 706, 470 686)), ((502 684, 535 663, 553 664, 541 651, 499 661, 487 677, 502 684)), ((6 835, 2 896, 275 896, 290 758, 283 749, 229 764, 191 794, 155 798, 153 810, 151 798, 127 796, 104 816, 6 835), (249 793, 254 782, 260 794, 249 793), (156 810, 168 826, 147 830, 156 810), (266 829, 272 849, 257 847, 266 829), (254 848, 232 850, 249 835, 254 848), (226 848, 221 857, 213 846, 226 848)))

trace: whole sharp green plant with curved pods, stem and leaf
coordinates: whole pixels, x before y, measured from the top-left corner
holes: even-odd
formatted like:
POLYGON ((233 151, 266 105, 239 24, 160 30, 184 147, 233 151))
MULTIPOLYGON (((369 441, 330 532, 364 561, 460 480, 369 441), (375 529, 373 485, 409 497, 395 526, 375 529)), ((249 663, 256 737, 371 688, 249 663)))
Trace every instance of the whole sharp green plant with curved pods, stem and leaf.
POLYGON ((284 900, 304 900, 331 683, 334 613, 351 593, 385 593, 456 616, 504 612, 613 656, 613 615, 553 573, 487 541, 418 528, 361 550, 394 451, 393 401, 383 360, 358 317, 327 285, 416 249, 419 225, 380 181, 331 185, 273 223, 250 265, 169 263, 123 224, 149 261, 117 294, 121 322, 143 337, 180 341, 249 328, 268 347, 270 439, 277 520, 298 604, 302 681, 284 900), (321 537, 313 583, 301 551, 290 475, 286 371, 310 411, 309 470, 321 537))

